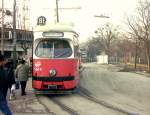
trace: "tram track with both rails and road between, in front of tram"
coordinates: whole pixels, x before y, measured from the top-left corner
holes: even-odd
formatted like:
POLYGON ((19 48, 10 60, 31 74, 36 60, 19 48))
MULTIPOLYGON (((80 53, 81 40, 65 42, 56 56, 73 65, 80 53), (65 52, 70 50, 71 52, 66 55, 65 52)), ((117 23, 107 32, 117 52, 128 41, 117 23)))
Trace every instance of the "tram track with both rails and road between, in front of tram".
MULTIPOLYGON (((60 109, 56 109, 56 108, 53 109, 52 107, 50 108, 51 114, 53 113, 54 115, 57 115, 57 113, 61 113, 61 111, 64 113, 64 114, 61 113, 62 115, 67 115, 67 113, 69 115, 84 115, 84 114, 87 114, 88 111, 90 112, 91 110, 90 108, 93 108, 93 107, 95 108, 97 112, 99 111, 99 113, 103 113, 107 111, 108 109, 109 112, 113 112, 113 115, 114 113, 116 113, 115 115, 139 115, 137 113, 130 112, 125 109, 111 105, 109 102, 106 102, 105 100, 97 99, 96 97, 92 96, 92 94, 87 89, 82 88, 82 87, 79 87, 78 92, 75 94, 51 95, 51 96, 48 96, 47 99, 51 100, 50 102, 51 104, 49 103, 49 105, 46 105, 47 107, 53 104, 54 105, 53 107, 56 107, 57 105, 60 108, 60 109), (73 100, 72 103, 71 103, 71 100, 73 100), (78 106, 75 106, 73 104, 75 102, 78 104, 80 102, 81 103, 78 106), (82 105, 82 108, 80 108, 81 105, 82 105), (102 108, 106 108, 106 109, 103 109, 105 111, 101 111, 102 108)), ((45 100, 45 101, 48 102, 48 100, 45 100)), ((46 104, 46 102, 44 103, 46 104)))

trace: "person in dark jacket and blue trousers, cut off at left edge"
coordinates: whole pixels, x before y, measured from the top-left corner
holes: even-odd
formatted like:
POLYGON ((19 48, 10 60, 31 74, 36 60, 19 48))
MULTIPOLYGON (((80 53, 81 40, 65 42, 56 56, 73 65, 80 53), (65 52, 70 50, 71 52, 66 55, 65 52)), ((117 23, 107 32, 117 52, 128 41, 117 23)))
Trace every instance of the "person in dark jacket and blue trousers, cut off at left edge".
POLYGON ((7 79, 7 73, 4 69, 4 65, 6 63, 6 60, 3 55, 0 55, 0 110, 4 115, 12 115, 12 112, 10 111, 7 100, 5 98, 4 94, 4 88, 6 84, 8 85, 8 79, 7 79))

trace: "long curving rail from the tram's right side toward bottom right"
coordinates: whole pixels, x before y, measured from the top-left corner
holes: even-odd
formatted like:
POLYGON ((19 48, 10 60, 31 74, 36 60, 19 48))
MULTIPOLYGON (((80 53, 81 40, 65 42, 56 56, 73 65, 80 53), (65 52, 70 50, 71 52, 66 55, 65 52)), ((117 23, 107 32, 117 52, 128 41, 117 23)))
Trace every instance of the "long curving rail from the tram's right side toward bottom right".
POLYGON ((126 114, 126 115, 139 115, 138 113, 129 112, 129 111, 125 110, 125 109, 116 107, 116 106, 114 106, 114 105, 112 105, 112 104, 109 104, 109 103, 105 102, 104 100, 99 100, 99 99, 95 98, 94 96, 92 96, 91 93, 90 93, 87 89, 85 89, 85 88, 83 88, 83 87, 81 87, 81 86, 79 87, 78 94, 79 94, 80 96, 82 96, 82 97, 84 97, 84 98, 86 98, 86 99, 88 99, 88 100, 94 102, 94 103, 97 103, 97 104, 99 104, 99 105, 102 105, 102 106, 104 106, 104 107, 106 107, 106 108, 109 108, 109 109, 111 109, 111 110, 115 110, 115 111, 124 113, 124 114, 126 114))

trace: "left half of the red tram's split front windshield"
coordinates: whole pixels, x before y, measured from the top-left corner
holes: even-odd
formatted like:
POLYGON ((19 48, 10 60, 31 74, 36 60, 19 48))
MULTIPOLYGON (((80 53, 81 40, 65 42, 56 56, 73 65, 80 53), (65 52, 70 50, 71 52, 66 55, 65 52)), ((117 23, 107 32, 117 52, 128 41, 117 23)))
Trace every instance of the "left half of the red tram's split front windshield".
POLYGON ((52 43, 49 42, 48 40, 43 40, 40 41, 38 44, 35 54, 38 57, 49 57, 51 58, 53 56, 53 51, 52 51, 52 43))

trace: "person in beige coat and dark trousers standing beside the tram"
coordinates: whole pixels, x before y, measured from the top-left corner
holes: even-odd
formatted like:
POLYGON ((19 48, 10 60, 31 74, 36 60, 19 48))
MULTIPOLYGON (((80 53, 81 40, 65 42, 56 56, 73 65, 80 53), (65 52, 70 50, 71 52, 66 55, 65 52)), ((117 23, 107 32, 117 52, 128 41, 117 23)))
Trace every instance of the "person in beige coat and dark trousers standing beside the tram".
POLYGON ((21 60, 16 68, 15 75, 21 85, 21 95, 26 95, 26 85, 29 78, 30 66, 26 64, 25 60, 21 60))

